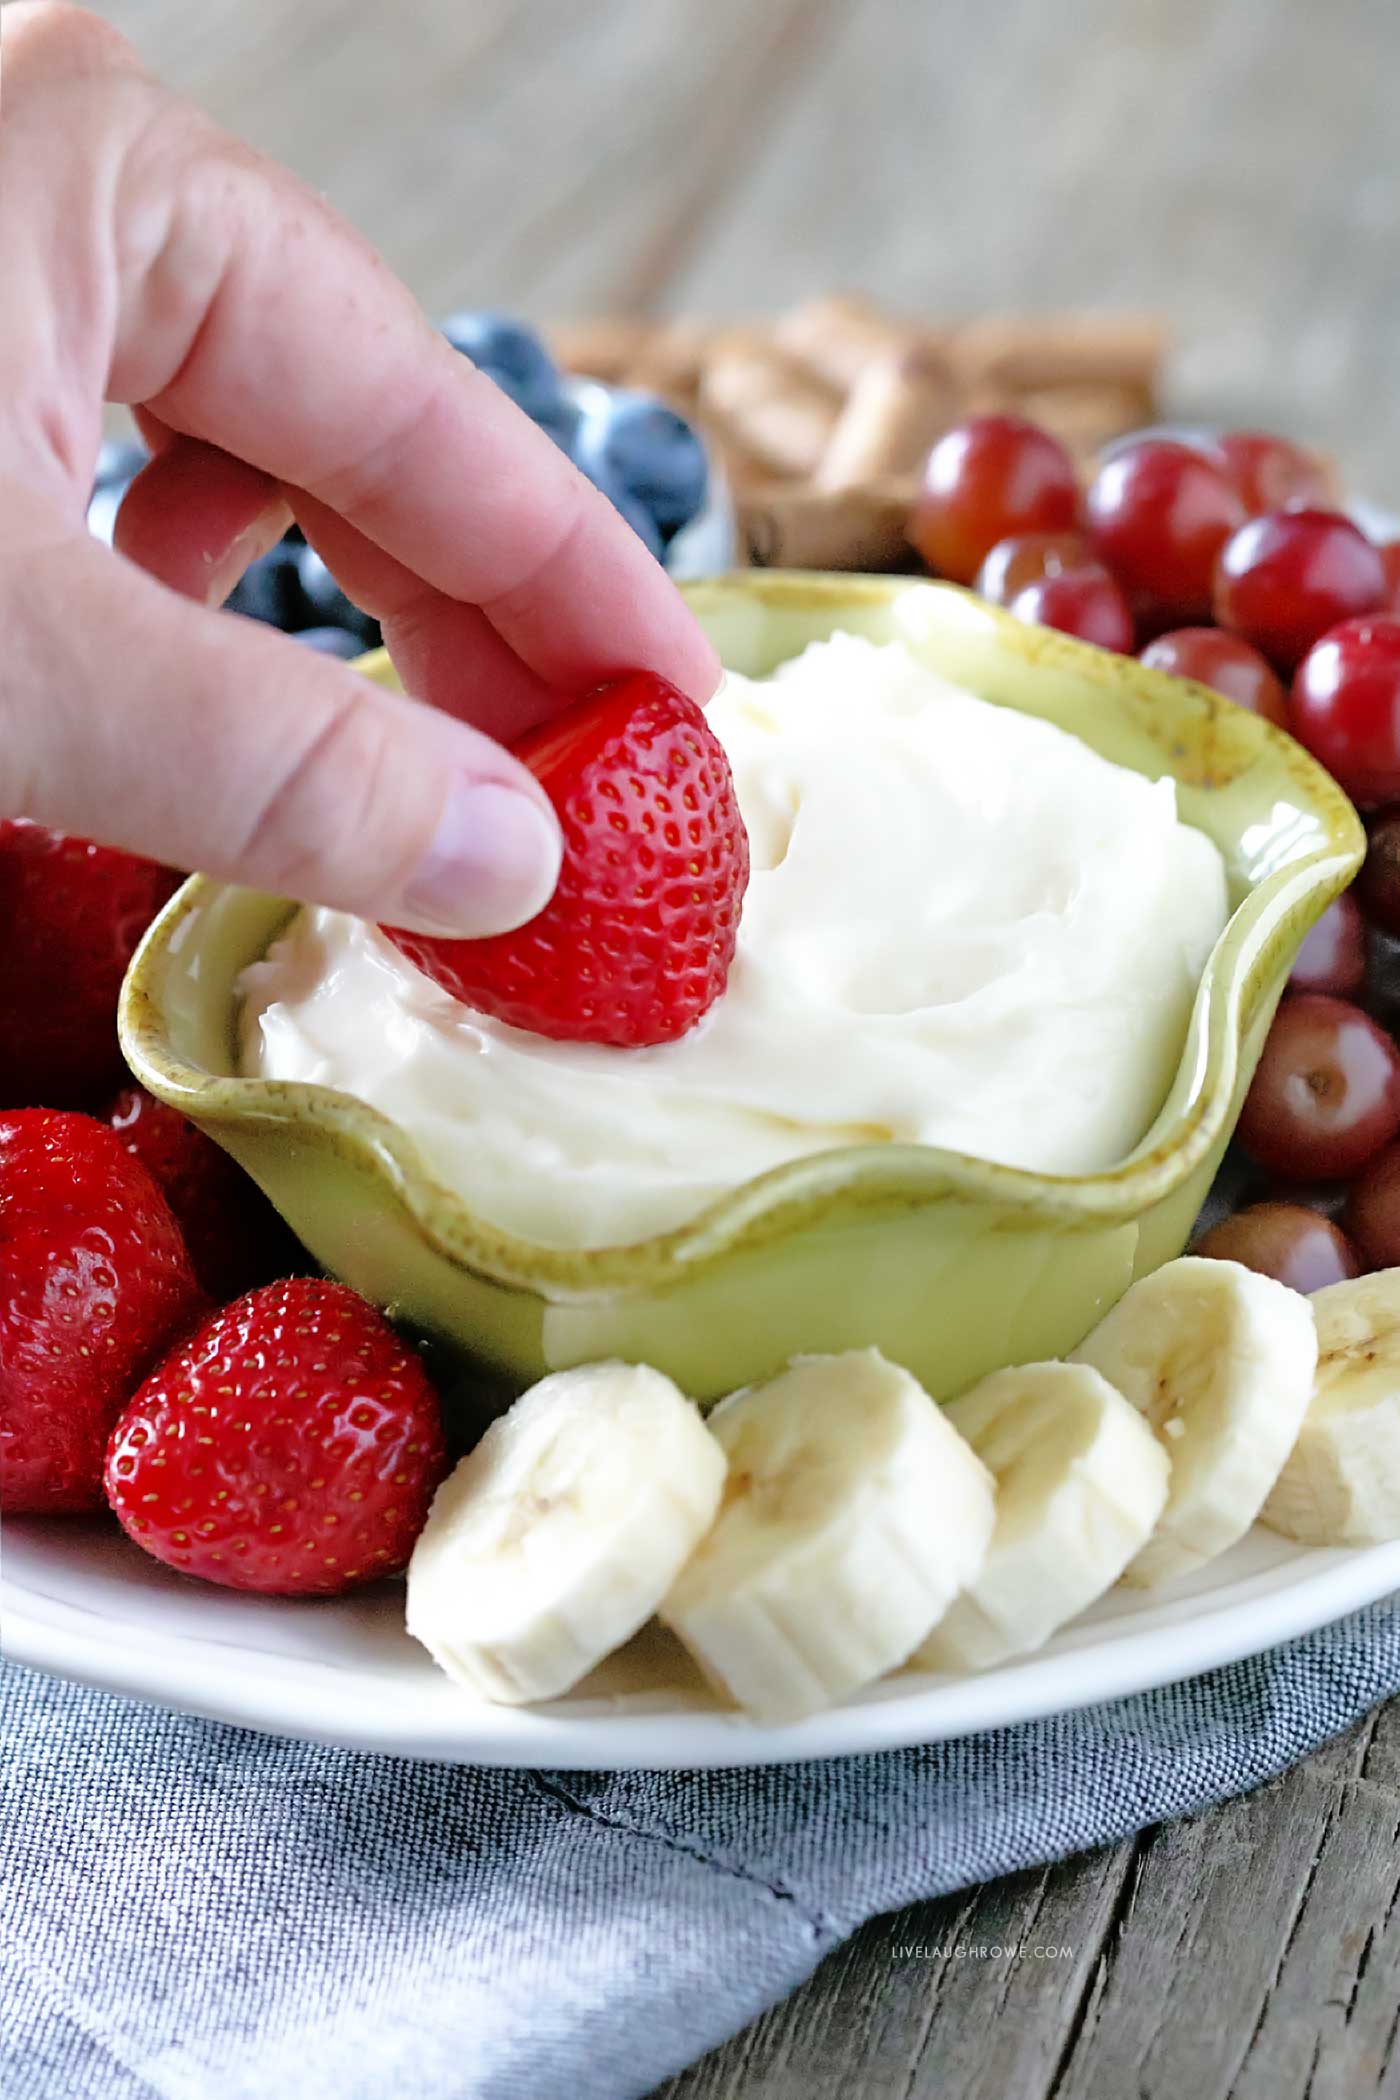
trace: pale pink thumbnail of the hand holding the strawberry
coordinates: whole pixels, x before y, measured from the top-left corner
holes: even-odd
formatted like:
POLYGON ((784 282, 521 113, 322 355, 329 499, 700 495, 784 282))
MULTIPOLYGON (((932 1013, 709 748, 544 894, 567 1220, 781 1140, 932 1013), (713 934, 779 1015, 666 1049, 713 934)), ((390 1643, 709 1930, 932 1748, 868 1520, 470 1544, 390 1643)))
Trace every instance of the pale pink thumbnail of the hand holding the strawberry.
POLYGON ((560 855, 558 825, 529 794, 458 779, 405 890, 403 920, 460 941, 510 932, 548 905, 560 855))

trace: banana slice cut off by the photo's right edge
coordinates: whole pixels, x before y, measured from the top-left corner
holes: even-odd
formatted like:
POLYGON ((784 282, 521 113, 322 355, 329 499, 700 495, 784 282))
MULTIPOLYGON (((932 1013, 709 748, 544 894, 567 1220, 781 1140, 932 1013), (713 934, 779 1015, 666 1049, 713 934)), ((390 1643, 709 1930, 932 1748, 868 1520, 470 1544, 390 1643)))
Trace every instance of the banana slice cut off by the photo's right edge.
POLYGON ((1264 1522, 1303 1546, 1400 1539, 1400 1268, 1312 1300, 1318 1378, 1264 1522))

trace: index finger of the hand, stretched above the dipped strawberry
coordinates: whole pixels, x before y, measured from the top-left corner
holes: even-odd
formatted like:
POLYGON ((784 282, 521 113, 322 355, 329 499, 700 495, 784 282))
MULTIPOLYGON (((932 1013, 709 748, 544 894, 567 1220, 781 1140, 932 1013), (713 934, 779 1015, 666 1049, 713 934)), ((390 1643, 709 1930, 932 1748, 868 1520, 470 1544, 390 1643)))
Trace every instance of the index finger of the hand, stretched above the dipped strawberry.
MULTIPOLYGON (((73 109, 59 134, 36 111, 29 136, 10 132, 27 189, 63 155, 69 191, 82 141, 109 132, 101 69, 67 90, 94 97, 90 124, 73 109)), ((6 99, 6 128, 25 101, 6 99)), ((546 682, 642 666, 707 699, 718 664, 665 571, 369 246, 157 86, 128 107, 109 393, 311 491, 445 598, 483 607, 546 682)))

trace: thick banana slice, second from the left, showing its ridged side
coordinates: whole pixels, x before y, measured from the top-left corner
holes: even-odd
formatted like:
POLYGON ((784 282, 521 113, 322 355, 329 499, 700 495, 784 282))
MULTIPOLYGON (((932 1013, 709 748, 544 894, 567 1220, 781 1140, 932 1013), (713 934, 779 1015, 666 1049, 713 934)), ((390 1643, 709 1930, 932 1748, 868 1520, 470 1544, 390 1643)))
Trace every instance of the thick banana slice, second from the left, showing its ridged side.
POLYGON ((661 1619, 741 1707, 798 1720, 894 1670, 968 1583, 991 1474, 879 1350, 798 1357, 709 1415, 724 1508, 661 1619))

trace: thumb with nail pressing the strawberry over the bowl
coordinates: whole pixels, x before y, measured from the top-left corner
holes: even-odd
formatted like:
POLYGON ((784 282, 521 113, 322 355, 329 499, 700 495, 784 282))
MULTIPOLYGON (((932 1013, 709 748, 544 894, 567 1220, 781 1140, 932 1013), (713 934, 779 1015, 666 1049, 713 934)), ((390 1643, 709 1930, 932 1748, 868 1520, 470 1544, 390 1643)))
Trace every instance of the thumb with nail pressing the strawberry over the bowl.
POLYGON ((0 817, 418 932, 554 888, 558 821, 500 743, 86 536, 10 552, 0 632, 0 817))

